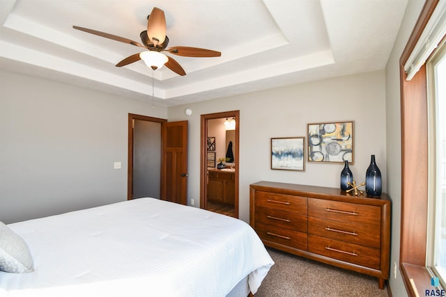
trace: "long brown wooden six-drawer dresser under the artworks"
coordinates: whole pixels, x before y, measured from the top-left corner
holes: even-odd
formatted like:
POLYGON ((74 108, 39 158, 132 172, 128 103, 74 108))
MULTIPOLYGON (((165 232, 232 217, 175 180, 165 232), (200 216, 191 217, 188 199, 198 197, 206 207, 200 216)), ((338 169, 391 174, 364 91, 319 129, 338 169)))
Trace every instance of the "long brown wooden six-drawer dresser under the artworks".
MULTIPOLYGON (((365 194, 364 194, 365 195, 365 194)), ((390 269, 390 199, 277 182, 250 185, 249 223, 263 243, 378 278, 390 269)))

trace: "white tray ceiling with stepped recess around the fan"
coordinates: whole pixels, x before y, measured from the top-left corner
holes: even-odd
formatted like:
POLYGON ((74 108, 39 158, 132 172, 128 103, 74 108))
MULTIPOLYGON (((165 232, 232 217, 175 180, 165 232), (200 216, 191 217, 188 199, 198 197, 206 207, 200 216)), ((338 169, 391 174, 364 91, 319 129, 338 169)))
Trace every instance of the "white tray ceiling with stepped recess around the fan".
MULTIPOLYGON (((172 56, 154 72, 156 104, 173 106, 254 90, 383 70, 408 0, 0 0, 0 68, 151 99, 143 51, 72 29, 83 26, 141 42, 147 15, 164 10, 169 47, 221 51, 172 56)), ((169 54, 168 54, 169 55, 169 54)))

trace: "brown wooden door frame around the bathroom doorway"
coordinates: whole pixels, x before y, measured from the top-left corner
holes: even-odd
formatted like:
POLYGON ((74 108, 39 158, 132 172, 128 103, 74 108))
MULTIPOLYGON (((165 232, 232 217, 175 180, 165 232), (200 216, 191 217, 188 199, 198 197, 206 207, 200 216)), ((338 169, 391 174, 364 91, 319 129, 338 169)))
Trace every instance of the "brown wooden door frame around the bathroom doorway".
POLYGON ((208 145, 208 120, 219 119, 219 118, 236 118, 236 145, 233 147, 235 154, 238 158, 236 162, 235 169, 235 188, 236 188, 236 197, 234 202, 234 211, 235 216, 238 218, 238 188, 239 188, 239 168, 240 168, 240 111, 224 111, 221 113, 208 113, 206 115, 201 115, 201 134, 200 134, 200 208, 207 209, 207 195, 208 195, 208 187, 207 187, 207 179, 208 179, 208 166, 207 166, 207 145, 208 145))

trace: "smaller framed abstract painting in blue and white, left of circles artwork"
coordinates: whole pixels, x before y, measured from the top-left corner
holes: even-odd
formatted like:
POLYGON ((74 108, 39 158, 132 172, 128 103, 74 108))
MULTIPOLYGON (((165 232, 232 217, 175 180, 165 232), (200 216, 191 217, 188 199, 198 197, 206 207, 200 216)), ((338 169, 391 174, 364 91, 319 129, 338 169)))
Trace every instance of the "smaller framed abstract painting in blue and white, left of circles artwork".
POLYGON ((305 137, 271 138, 271 169, 305 171, 305 137))

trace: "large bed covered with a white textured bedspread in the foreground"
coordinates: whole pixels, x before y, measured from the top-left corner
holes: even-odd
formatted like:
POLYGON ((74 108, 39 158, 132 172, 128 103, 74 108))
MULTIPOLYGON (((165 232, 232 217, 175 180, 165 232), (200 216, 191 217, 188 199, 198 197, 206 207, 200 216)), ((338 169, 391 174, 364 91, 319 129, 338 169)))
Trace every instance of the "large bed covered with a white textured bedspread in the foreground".
POLYGON ((242 220, 155 198, 2 225, 32 263, 1 297, 247 296, 274 264, 242 220))

